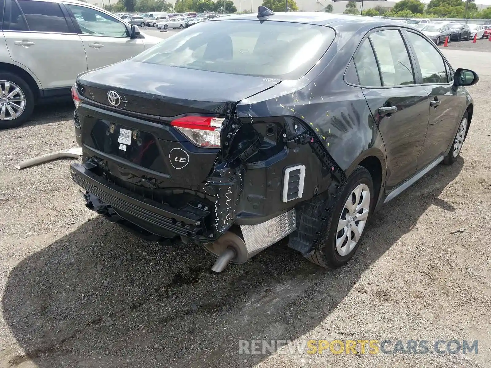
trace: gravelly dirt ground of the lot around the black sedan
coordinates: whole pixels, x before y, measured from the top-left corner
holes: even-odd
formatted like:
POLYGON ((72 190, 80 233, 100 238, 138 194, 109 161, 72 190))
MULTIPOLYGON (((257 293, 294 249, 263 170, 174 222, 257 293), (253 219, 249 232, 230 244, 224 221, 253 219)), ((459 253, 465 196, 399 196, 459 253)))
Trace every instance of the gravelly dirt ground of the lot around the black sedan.
POLYGON ((382 208, 335 271, 283 241, 214 274, 198 246, 143 241, 87 210, 70 179, 74 160, 15 169, 72 147, 70 104, 0 131, 0 367, 491 367, 490 54, 444 53, 481 77, 461 158, 382 208), (239 354, 239 340, 262 339, 479 348, 239 354))

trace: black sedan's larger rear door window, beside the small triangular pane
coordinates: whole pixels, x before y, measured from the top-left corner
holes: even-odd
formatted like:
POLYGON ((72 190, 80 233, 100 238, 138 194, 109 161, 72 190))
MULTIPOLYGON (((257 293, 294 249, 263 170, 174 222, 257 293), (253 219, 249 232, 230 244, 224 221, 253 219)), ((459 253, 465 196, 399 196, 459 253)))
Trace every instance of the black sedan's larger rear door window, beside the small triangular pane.
POLYGON ((382 30, 370 35, 382 74, 383 86, 414 84, 409 53, 396 29, 382 30))

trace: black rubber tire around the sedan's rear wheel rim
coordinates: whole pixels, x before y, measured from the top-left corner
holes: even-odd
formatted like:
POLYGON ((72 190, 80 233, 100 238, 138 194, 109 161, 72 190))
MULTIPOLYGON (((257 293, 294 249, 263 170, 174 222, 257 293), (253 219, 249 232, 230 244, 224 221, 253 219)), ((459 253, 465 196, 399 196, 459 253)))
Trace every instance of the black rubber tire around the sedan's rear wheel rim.
MULTIPOLYGON (((346 184, 338 188, 337 195, 330 200, 330 211, 328 212, 328 217, 324 220, 321 226, 321 238, 317 244, 317 248, 313 254, 307 256, 306 258, 315 264, 318 264, 324 268, 338 268, 342 265, 348 263, 348 261, 353 257, 358 249, 361 241, 363 240, 363 235, 366 232, 366 224, 360 238, 358 239, 355 247, 345 256, 341 256, 336 250, 336 237, 338 234, 337 226, 338 221, 344 211, 344 205, 348 200, 349 196, 352 194, 354 188, 359 184, 366 184, 370 191, 370 205, 368 210, 367 223, 370 221, 371 213, 373 212, 374 206, 374 189, 373 181, 370 172, 362 166, 357 166, 353 173, 348 178, 346 184)), ((321 205, 321 208, 324 208, 321 205)), ((343 231, 343 230, 341 230, 343 231)))

